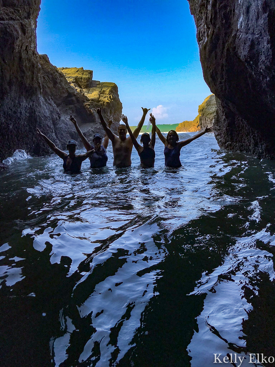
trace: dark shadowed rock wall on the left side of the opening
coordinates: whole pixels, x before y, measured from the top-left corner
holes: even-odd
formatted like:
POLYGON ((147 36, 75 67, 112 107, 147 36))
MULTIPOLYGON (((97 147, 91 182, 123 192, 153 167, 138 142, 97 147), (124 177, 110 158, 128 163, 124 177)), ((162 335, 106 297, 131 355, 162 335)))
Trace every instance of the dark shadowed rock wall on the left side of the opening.
POLYGON ((70 113, 88 135, 103 132, 88 97, 70 86, 47 55, 38 55, 39 11, 40 0, 0 0, 0 161, 16 149, 49 153, 36 127, 62 149, 69 138, 79 141, 70 113))

